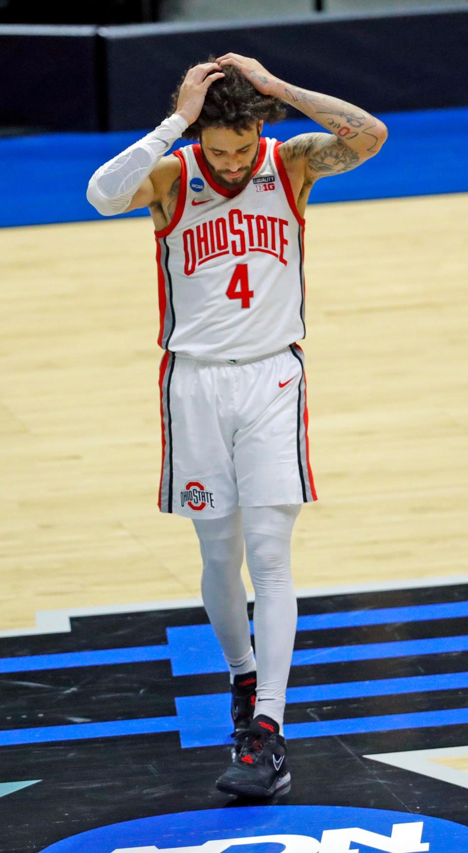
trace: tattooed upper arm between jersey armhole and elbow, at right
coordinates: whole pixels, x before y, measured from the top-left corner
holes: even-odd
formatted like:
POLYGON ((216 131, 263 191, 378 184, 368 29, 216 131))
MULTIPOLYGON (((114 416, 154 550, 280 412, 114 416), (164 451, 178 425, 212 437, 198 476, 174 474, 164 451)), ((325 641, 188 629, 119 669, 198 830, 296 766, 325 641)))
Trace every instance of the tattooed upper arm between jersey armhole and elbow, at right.
POLYGON ((361 161, 356 151, 332 134, 304 133, 284 144, 287 162, 306 160, 308 183, 314 183, 317 177, 350 171, 361 161))

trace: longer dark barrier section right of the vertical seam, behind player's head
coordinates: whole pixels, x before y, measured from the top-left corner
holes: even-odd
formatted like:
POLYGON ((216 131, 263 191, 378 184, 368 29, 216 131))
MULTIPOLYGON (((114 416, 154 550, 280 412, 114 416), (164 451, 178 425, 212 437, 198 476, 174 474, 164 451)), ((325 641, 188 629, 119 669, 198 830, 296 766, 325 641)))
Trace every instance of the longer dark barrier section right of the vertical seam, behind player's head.
POLYGON ((113 130, 158 124, 182 71, 228 50, 255 56, 280 78, 371 112, 468 103, 461 73, 468 9, 221 29, 193 25, 189 31, 164 24, 109 27, 101 33, 113 130))

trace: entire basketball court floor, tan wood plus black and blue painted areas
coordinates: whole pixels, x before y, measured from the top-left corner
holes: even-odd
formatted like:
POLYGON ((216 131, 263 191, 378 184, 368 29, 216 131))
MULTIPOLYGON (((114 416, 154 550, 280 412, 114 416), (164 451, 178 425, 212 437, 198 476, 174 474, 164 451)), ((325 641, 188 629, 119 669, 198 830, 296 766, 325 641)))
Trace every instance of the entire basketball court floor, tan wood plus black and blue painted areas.
POLYGON ((306 217, 319 501, 267 809, 215 788, 226 665, 157 508, 151 220, 0 231, 0 853, 466 848, 467 196, 306 217))

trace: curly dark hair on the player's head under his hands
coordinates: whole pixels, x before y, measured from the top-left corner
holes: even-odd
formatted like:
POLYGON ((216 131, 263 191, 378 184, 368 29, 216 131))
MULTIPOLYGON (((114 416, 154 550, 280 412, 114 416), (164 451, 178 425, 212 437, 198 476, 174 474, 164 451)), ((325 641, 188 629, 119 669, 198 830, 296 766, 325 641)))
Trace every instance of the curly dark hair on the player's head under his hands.
MULTIPOLYGON (((216 62, 216 59, 210 56, 205 61, 216 62)), ((177 98, 187 71, 172 95, 170 115, 176 112, 177 98)), ((183 131, 184 139, 199 139, 206 127, 228 127, 240 135, 261 119, 273 125, 286 117, 286 109, 280 100, 262 95, 239 68, 226 65, 222 71, 225 76, 215 80, 207 90, 199 118, 183 131)))

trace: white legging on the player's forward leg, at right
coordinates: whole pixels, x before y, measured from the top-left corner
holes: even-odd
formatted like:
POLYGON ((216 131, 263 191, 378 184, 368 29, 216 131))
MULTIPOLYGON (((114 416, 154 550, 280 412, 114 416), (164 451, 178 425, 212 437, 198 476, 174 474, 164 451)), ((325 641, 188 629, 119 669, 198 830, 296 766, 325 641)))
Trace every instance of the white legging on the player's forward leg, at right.
POLYGON ((301 506, 242 509, 246 560, 255 589, 255 716, 272 717, 280 725, 280 734, 298 624, 298 602, 291 574, 291 536, 301 506))

